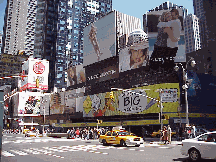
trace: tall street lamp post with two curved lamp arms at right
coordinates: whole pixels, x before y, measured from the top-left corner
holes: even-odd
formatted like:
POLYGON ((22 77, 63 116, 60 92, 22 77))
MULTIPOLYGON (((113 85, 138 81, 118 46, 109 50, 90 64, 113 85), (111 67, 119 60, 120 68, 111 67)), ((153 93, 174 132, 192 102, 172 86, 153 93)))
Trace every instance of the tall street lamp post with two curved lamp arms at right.
POLYGON ((190 60, 186 63, 186 69, 183 67, 183 65, 181 63, 176 63, 176 66, 175 66, 175 71, 178 71, 179 70, 179 67, 177 64, 181 65, 181 68, 183 69, 183 80, 184 80, 184 85, 182 86, 182 88, 185 90, 185 104, 186 104, 186 123, 189 124, 189 119, 188 119, 188 98, 187 98, 187 89, 188 89, 188 86, 190 84, 190 81, 189 79, 187 79, 187 65, 188 63, 191 61, 191 66, 194 67, 196 65, 196 62, 194 61, 194 58, 193 57, 190 57, 190 60), (189 83, 188 83, 189 82, 189 83))

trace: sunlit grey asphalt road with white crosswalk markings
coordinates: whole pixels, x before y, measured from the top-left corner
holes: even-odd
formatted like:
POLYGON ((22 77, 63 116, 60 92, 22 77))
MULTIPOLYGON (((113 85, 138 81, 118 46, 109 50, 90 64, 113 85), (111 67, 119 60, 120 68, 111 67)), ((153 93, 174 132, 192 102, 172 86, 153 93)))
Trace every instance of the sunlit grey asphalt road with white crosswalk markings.
MULTIPOLYGON (((103 146, 98 140, 3 135, 2 162, 171 162, 189 161, 180 145, 103 146)), ((210 162, 212 160, 203 160, 210 162)))

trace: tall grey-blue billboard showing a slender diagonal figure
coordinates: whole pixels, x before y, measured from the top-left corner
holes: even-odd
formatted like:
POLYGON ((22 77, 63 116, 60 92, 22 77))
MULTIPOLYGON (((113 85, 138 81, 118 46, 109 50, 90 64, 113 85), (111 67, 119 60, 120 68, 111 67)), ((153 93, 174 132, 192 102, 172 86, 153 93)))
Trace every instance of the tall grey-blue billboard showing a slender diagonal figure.
POLYGON ((116 56, 115 12, 84 28, 83 52, 84 66, 116 56))

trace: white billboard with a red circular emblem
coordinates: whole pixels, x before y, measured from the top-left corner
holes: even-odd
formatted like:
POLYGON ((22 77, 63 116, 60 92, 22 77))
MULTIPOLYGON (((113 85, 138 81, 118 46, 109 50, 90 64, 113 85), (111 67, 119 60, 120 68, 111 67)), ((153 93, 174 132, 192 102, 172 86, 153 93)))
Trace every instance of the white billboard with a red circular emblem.
POLYGON ((26 89, 48 90, 49 61, 29 58, 22 65, 21 91, 26 89), (36 86, 38 80, 38 87, 36 86))

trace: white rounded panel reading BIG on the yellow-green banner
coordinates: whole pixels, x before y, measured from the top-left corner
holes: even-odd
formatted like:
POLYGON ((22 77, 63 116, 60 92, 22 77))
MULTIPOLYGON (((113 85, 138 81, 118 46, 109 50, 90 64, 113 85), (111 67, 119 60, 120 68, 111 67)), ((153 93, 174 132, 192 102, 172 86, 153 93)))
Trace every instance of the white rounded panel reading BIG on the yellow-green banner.
POLYGON ((146 95, 146 93, 142 89, 123 92, 119 96, 118 110, 126 113, 142 112, 147 106, 147 98, 143 95, 146 95))

